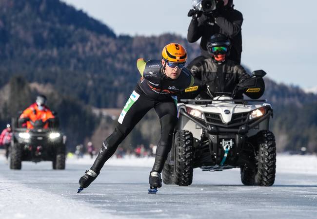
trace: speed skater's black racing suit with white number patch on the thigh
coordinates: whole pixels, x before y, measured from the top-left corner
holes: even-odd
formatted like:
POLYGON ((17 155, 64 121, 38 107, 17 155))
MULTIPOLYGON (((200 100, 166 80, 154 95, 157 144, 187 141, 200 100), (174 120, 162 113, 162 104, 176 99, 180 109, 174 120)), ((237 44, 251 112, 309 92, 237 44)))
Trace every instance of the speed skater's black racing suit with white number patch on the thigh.
POLYGON ((180 90, 190 87, 194 78, 184 68, 175 80, 165 76, 160 60, 138 60, 142 75, 135 90, 124 106, 115 131, 103 142, 95 163, 90 168, 97 174, 103 164, 115 153, 119 144, 152 108, 158 114, 161 136, 158 143, 153 171, 161 172, 172 146, 173 130, 178 119, 177 98, 180 90))

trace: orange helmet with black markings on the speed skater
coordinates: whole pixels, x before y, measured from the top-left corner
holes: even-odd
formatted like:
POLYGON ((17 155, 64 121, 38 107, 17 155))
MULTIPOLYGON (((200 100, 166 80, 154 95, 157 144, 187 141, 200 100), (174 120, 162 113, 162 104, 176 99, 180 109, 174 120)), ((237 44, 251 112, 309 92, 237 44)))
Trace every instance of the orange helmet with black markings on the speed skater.
POLYGON ((164 46, 162 58, 169 62, 186 62, 187 51, 182 45, 178 43, 170 43, 164 46))

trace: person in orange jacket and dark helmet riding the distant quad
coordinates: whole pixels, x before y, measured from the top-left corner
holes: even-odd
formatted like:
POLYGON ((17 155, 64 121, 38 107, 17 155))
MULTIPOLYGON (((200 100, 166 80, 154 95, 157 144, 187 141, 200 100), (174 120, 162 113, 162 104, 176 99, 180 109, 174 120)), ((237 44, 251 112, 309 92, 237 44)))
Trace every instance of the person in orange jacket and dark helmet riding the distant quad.
POLYGON ((34 126, 41 126, 41 128, 48 128, 49 119, 54 119, 52 111, 46 107, 46 96, 39 95, 35 103, 23 111, 19 118, 19 124, 26 128, 33 129, 34 126))

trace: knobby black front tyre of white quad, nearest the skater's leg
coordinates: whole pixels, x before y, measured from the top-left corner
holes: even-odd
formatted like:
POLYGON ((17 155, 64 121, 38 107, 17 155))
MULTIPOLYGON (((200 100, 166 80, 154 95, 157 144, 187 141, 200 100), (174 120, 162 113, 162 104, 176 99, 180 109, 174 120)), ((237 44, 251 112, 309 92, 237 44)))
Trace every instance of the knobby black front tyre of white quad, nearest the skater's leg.
POLYGON ((193 134, 187 130, 179 130, 175 134, 175 184, 185 186, 192 184, 193 161, 193 134))

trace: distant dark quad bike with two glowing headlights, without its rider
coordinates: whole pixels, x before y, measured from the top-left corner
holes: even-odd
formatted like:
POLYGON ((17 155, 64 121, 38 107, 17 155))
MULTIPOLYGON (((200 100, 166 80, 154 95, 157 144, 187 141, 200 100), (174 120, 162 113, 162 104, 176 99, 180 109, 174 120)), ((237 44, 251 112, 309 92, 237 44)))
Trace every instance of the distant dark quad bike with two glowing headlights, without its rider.
POLYGON ((21 169, 22 161, 52 161, 53 169, 65 169, 65 138, 59 130, 58 118, 31 123, 33 129, 21 128, 18 119, 12 119, 10 169, 21 169), (46 123, 49 128, 43 128, 46 123))

